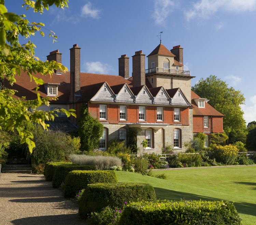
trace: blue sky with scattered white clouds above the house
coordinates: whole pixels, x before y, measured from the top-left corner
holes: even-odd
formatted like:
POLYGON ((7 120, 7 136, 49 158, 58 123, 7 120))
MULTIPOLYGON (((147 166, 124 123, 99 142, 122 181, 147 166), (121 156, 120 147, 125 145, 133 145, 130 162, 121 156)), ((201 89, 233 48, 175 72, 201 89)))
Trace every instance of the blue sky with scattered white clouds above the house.
MULTIPOLYGON (((46 60, 59 49, 69 68, 69 48, 81 49, 81 71, 118 75, 118 58, 143 50, 148 55, 158 44, 184 47, 184 64, 194 85, 213 74, 241 90, 246 122, 256 120, 256 0, 70 0, 69 8, 54 6, 44 14, 21 7, 22 0, 6 0, 8 11, 26 14, 45 23, 58 42, 36 35, 36 55, 46 60)), ((45 33, 48 33, 45 30, 45 33)), ((147 65, 147 62, 146 62, 147 65)))

